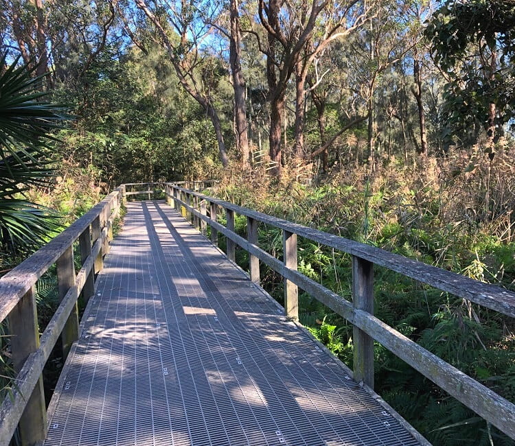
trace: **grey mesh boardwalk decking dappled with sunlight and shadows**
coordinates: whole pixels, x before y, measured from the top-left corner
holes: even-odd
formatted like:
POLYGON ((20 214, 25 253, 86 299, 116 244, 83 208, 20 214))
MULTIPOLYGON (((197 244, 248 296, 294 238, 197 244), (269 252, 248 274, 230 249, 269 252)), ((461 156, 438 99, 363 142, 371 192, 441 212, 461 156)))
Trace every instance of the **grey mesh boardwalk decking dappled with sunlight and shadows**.
POLYGON ((128 204, 45 445, 416 445, 161 202, 128 204))

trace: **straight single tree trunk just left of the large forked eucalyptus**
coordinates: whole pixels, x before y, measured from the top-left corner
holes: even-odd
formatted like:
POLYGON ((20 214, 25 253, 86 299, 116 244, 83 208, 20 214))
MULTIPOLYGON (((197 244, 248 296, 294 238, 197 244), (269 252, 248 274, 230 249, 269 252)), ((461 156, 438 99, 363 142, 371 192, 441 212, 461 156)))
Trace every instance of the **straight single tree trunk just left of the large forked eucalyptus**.
POLYGON ((247 110, 245 107, 245 79, 242 72, 241 60, 241 32, 240 15, 238 14, 238 0, 229 3, 231 14, 231 38, 229 42, 229 64, 233 75, 234 89, 234 121, 236 127, 236 148, 242 157, 244 165, 249 165, 249 133, 247 110))

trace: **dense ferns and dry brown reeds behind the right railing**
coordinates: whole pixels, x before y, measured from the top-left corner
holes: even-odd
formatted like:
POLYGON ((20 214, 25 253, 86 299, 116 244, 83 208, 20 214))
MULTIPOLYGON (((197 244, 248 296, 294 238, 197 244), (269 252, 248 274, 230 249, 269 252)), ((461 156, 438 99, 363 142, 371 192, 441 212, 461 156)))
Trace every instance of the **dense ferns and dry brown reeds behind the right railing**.
MULTIPOLYGON (((515 290, 513 155, 491 163, 457 157, 424 167, 390 163, 332 172, 319 185, 233 173, 218 196, 245 207, 320 228, 393 253, 515 290)), ((293 175, 292 175, 293 177, 293 175)), ((236 229, 245 232, 245 219, 236 229)), ((282 234, 260 226, 260 246, 282 257, 282 234)), ((299 270, 341 296, 351 296, 350 256, 299 239, 299 270)), ((237 251, 247 266, 247 254, 237 251)), ((282 279, 262 266, 264 287, 282 302, 282 279)), ((478 305, 375 269, 375 312, 429 351, 515 401, 515 325, 478 305)), ((352 367, 352 325, 300 294, 300 320, 352 367)), ((513 441, 448 396, 380 344, 375 346, 378 393, 435 445, 511 445, 513 441)))

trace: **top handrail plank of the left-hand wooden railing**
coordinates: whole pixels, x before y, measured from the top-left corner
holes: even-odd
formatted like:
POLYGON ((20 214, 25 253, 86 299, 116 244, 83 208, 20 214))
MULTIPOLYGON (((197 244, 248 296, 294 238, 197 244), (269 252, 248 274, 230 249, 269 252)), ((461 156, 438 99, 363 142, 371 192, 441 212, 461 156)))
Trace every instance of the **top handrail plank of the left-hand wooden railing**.
POLYGON ((65 231, 62 231, 43 248, 36 251, 0 279, 0 322, 8 316, 19 299, 30 290, 32 285, 56 262, 62 253, 78 239, 84 229, 97 218, 106 204, 120 193, 122 193, 122 189, 117 188, 106 196, 102 202, 82 215, 79 220, 68 226, 65 231))

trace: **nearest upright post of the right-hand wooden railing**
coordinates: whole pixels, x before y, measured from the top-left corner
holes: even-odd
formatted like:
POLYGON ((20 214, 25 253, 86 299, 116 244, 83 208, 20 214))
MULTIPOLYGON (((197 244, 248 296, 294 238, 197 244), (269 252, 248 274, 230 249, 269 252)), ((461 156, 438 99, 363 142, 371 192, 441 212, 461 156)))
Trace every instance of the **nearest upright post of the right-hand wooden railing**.
MULTIPOLYGON (((374 263, 352 256, 352 304, 374 314, 374 263)), ((354 379, 374 388, 374 339, 354 326, 354 379)))

